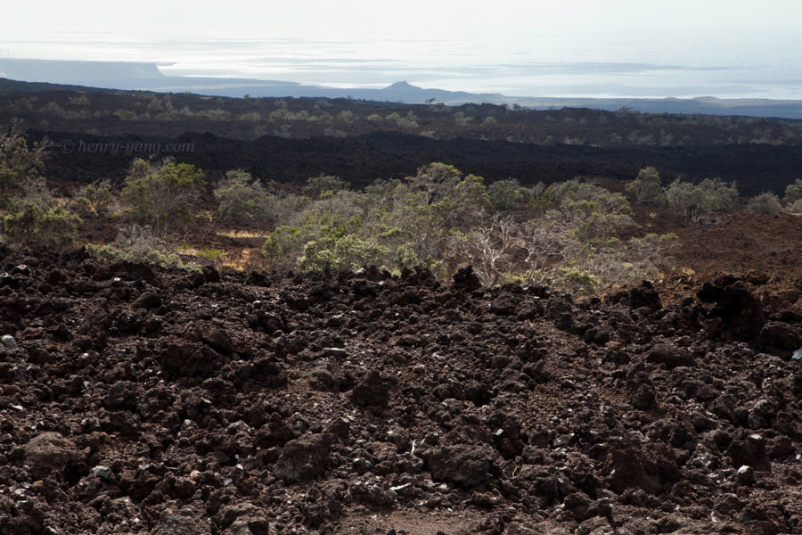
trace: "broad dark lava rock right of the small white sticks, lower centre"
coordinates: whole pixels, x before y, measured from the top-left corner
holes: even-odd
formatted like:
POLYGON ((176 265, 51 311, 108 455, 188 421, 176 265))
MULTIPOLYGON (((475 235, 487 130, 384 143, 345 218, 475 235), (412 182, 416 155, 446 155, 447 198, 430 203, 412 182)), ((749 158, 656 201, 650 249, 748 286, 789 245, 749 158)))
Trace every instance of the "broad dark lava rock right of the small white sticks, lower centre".
POLYGON ((455 444, 431 449, 424 458, 432 480, 473 488, 489 483, 495 452, 484 444, 455 444))

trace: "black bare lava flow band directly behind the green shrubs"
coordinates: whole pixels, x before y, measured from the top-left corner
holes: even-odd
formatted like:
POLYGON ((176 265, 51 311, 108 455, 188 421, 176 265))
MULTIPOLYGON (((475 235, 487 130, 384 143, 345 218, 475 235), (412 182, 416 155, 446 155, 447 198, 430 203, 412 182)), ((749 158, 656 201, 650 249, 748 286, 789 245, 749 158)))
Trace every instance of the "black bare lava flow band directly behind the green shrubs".
POLYGON ((794 145, 593 147, 437 140, 389 132, 311 139, 265 136, 244 141, 209 132, 155 137, 29 131, 33 142, 45 137, 54 144, 45 175, 84 184, 106 179, 121 182, 135 158, 159 161, 173 157, 200 167, 209 177, 245 169, 263 181, 292 184, 331 174, 357 188, 377 178, 408 177, 421 166, 443 161, 485 177, 488 183, 516 177, 523 184, 551 184, 575 177, 625 181, 646 166, 656 166, 666 184, 676 177, 720 177, 735 182, 741 195, 752 196, 765 191, 784 193, 802 169, 802 147, 794 145), (179 150, 171 152, 169 147, 179 150))

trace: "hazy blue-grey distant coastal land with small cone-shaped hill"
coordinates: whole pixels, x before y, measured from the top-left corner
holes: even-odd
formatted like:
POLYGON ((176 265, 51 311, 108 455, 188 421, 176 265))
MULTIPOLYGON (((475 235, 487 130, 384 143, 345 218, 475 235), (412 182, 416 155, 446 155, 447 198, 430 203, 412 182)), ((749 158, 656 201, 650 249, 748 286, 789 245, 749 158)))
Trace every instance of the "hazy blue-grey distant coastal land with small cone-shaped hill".
MULTIPOLYGON (((617 111, 621 108, 651 113, 700 113, 802 119, 802 101, 770 99, 693 99, 639 98, 562 98, 508 96, 491 93, 446 91, 397 82, 380 89, 305 86, 285 80, 250 78, 211 78, 165 76, 155 63, 81 62, 53 60, 0 59, 0 78, 28 82, 98 87, 103 89, 144 90, 160 93, 191 92, 200 95, 243 97, 352 98, 391 103, 445 104, 495 103, 526 106, 536 110, 561 107, 617 111)), ((0 89, 19 90, 0 85, 0 89)))

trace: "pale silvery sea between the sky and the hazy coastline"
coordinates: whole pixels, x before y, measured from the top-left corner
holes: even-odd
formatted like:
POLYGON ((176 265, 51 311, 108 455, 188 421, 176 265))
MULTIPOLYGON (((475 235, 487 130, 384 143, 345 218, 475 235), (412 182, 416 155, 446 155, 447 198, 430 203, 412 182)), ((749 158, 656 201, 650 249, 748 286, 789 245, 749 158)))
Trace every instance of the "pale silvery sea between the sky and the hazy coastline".
POLYGON ((555 37, 414 40, 0 36, 13 58, 156 62, 167 75, 339 87, 415 86, 516 96, 802 99, 802 47, 677 39, 603 45, 555 37))

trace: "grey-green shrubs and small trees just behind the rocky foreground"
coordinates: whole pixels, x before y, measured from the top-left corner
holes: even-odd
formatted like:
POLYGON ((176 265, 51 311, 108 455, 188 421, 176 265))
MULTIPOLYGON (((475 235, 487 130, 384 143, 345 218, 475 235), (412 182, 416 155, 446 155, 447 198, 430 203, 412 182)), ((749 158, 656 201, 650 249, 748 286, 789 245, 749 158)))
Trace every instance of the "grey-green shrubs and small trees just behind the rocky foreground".
MULTIPOLYGON (((343 117, 342 119, 348 119, 343 117)), ((546 283, 595 292, 659 276, 670 265, 676 235, 642 229, 633 206, 669 210, 691 224, 711 224, 736 210, 738 192, 717 178, 664 184, 653 167, 611 191, 589 178, 521 185, 515 178, 486 184, 446 163, 423 166, 404 179, 377 179, 361 190, 331 175, 307 179, 300 193, 234 169, 209 185, 201 169, 173 160, 135 159, 119 190, 110 181, 85 185, 57 199, 41 178, 44 146, 29 149, 15 129, 4 131, 4 241, 15 246, 63 247, 81 219, 117 226, 107 243, 87 250, 108 259, 162 267, 219 263, 224 249, 185 244, 192 226, 246 227, 266 235, 265 268, 358 269, 391 273, 425 266, 447 276, 471 263, 482 283, 546 283), (215 210, 209 213, 209 202, 215 210), (207 207, 207 210, 201 208, 207 207), (75 212, 75 213, 74 213, 75 212), (206 223, 201 223, 201 220, 206 223)), ((755 213, 798 210, 802 181, 785 197, 757 195, 755 213)), ((739 209, 740 210, 740 209, 739 209)))

